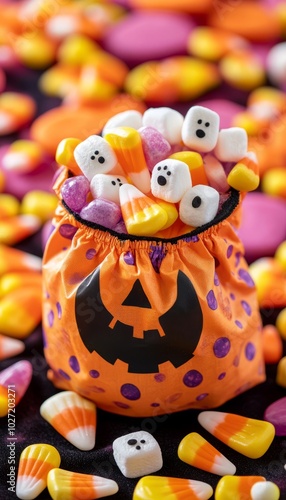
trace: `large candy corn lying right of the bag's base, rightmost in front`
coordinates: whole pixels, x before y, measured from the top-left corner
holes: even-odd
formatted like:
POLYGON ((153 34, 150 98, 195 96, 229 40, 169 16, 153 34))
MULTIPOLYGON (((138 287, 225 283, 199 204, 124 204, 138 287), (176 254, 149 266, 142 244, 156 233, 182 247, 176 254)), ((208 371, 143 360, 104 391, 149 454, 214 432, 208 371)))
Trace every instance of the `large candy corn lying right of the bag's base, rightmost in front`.
POLYGON ((271 445, 275 428, 269 422, 232 413, 204 411, 199 423, 217 439, 249 458, 260 458, 271 445))

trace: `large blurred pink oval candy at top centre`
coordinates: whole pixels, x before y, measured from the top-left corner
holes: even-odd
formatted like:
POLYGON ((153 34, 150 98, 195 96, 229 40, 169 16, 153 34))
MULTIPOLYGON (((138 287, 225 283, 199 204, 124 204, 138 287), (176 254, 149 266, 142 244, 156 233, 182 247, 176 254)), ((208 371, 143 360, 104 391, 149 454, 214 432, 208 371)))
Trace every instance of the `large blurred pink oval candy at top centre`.
POLYGON ((107 30, 104 48, 135 66, 187 53, 193 21, 175 12, 132 12, 107 30))

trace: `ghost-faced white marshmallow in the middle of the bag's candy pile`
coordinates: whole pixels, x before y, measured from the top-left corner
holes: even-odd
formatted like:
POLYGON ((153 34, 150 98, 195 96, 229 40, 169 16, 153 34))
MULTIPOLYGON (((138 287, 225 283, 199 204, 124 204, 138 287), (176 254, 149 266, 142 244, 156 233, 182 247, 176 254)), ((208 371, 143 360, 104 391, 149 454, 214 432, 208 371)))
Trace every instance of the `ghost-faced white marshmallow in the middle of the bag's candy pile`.
POLYGON ((167 158, 152 170, 151 193, 156 198, 177 203, 191 186, 190 169, 183 161, 167 158))

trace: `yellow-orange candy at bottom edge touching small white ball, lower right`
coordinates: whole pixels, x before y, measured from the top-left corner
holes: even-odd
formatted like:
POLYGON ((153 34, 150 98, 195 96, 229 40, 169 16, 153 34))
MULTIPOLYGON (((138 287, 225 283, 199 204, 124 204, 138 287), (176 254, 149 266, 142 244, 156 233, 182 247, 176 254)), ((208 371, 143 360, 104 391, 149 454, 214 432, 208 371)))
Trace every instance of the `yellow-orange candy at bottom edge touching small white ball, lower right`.
POLYGON ((250 491, 255 483, 266 481, 262 476, 224 476, 215 490, 215 500, 251 500, 250 491))

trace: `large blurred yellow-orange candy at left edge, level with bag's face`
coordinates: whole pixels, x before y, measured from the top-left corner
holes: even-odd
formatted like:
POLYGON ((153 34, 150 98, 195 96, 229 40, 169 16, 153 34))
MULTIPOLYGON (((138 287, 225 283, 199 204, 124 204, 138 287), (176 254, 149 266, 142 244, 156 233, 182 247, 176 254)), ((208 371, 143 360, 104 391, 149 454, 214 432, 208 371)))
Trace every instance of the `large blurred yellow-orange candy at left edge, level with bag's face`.
POLYGON ((0 300, 0 331, 25 338, 42 319, 42 291, 38 285, 12 290, 0 300))

